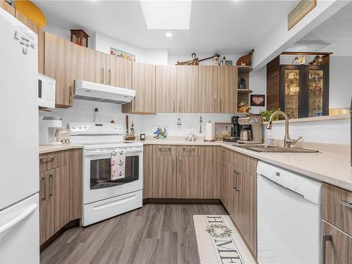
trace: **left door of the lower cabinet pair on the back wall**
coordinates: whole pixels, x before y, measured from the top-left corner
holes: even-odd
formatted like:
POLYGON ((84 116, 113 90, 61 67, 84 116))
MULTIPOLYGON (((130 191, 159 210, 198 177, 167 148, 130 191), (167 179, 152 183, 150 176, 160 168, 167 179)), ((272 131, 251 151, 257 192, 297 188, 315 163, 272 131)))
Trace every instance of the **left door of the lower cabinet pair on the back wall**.
POLYGON ((176 197, 176 157, 153 157, 153 198, 176 197))

